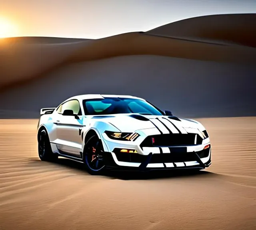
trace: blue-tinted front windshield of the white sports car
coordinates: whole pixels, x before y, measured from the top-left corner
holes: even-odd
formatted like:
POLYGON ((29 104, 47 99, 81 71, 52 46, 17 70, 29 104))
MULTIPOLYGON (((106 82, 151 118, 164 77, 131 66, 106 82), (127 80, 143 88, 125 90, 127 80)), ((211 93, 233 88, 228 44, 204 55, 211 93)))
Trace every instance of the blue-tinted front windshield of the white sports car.
POLYGON ((144 115, 163 115, 160 109, 150 103, 133 98, 106 97, 83 101, 86 115, 109 115, 118 113, 140 113, 144 115))

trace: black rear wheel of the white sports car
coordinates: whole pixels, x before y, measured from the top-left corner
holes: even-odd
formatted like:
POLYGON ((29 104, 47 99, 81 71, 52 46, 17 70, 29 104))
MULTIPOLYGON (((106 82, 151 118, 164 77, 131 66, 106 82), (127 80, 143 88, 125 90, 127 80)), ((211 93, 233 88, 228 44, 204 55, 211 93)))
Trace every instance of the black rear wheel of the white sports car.
POLYGON ((45 129, 42 129, 38 136, 38 155, 41 161, 56 161, 58 155, 52 153, 50 140, 45 129))

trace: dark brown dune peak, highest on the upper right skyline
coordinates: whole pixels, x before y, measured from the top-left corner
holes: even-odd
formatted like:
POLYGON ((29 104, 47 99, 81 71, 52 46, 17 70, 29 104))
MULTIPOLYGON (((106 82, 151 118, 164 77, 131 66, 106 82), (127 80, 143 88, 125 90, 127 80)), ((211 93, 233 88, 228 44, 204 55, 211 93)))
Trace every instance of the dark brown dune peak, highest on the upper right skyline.
POLYGON ((256 47, 255 14, 222 14, 188 18, 147 32, 176 38, 202 38, 208 42, 234 42, 256 47))

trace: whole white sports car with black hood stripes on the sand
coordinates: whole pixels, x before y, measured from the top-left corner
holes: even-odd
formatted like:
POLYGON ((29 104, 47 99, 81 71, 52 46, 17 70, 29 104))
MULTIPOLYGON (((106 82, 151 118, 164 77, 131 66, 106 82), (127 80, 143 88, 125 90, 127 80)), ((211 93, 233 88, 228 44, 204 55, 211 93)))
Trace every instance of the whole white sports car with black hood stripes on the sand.
POLYGON ((42 161, 66 157, 91 174, 106 169, 205 169, 211 145, 204 126, 127 95, 79 95, 40 111, 42 161))

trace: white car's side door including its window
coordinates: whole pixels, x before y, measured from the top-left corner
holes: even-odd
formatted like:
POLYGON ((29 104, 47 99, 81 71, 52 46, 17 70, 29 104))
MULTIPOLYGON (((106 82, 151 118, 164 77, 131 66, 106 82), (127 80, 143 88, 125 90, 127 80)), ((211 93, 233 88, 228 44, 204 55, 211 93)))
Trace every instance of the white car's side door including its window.
POLYGON ((73 99, 60 105, 56 116, 56 146, 62 155, 71 155, 80 158, 82 149, 81 131, 83 116, 78 100, 73 99), (72 110, 74 115, 63 115, 65 110, 72 110))

